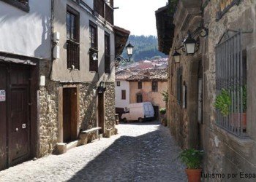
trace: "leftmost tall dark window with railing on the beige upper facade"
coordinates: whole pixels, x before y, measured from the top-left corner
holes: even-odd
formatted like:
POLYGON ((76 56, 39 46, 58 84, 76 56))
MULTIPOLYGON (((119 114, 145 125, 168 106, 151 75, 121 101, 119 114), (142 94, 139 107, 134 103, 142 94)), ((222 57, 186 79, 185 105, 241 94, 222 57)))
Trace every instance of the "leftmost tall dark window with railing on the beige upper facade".
MULTIPOLYGON (((75 69, 80 69, 80 14, 78 11, 69 7, 67 5, 66 19, 67 13, 75 16, 75 35, 72 38, 68 37, 67 30, 67 68, 72 69, 72 66, 75 66, 75 69)), ((67 21, 67 20, 66 20, 67 21)), ((67 23, 67 22, 66 22, 67 23)), ((67 24, 66 24, 67 29, 67 24)), ((70 33, 71 35, 71 33, 70 33)))

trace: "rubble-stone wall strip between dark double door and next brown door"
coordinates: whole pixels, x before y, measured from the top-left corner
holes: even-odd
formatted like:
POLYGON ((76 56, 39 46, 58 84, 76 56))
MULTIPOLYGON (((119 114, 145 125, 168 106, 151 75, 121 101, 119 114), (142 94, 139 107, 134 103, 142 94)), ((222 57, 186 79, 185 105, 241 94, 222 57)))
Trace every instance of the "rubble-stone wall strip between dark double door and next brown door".
POLYGON ((40 76, 45 76, 45 87, 39 90, 39 157, 51 154, 58 138, 58 87, 48 79, 49 60, 40 61, 40 76))

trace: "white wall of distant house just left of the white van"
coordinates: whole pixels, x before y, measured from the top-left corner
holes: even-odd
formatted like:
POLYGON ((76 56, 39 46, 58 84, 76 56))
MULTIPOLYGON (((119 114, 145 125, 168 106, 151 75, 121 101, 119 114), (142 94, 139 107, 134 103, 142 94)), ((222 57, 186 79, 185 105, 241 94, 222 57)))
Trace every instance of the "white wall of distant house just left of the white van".
POLYGON ((116 108, 125 108, 129 104, 129 82, 120 81, 120 87, 116 86, 116 108), (126 90, 126 100, 121 99, 121 90, 126 90))

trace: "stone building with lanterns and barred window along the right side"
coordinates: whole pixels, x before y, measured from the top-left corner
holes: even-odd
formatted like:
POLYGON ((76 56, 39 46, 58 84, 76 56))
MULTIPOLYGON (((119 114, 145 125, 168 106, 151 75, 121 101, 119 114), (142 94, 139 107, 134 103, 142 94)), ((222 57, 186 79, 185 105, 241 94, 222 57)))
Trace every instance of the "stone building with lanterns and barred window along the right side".
MULTIPOLYGON (((237 174, 233 181, 255 180, 244 175, 256 171, 252 62, 256 43, 255 5, 254 1, 195 0, 168 6, 168 15, 173 16, 173 31, 168 32, 173 39, 168 47, 167 119, 182 148, 205 151, 204 173, 226 177, 210 177, 205 181, 225 181, 228 173, 237 174), (191 55, 182 51, 188 31, 197 47, 197 52, 191 55), (181 54, 180 61, 172 56, 175 51, 181 54), (223 104, 217 106, 221 97, 228 100, 225 112, 223 104)), ((161 17, 161 13, 156 12, 156 16, 161 17)), ((159 28, 162 26, 158 20, 159 34, 166 33, 165 28, 159 28)))

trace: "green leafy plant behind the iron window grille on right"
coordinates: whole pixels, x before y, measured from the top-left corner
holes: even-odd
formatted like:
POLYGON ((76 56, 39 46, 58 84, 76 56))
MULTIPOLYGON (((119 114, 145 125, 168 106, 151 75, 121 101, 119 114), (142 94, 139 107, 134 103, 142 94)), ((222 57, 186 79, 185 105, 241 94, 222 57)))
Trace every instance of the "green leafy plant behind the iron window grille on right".
POLYGON ((230 114, 231 103, 230 93, 222 89, 222 92, 216 97, 214 107, 217 108, 223 116, 228 116, 228 114, 230 114))

